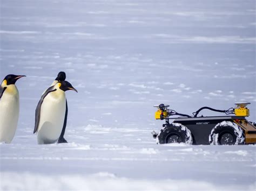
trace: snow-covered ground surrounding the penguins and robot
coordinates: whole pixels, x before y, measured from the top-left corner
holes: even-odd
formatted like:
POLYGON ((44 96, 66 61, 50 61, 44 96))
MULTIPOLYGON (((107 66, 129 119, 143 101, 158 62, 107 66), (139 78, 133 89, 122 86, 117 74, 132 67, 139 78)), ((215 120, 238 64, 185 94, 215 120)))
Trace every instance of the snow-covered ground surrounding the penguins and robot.
MULTIPOLYGON (((153 105, 180 113, 251 102, 255 1, 0 0, 0 77, 17 82, 0 190, 255 190, 255 145, 156 145, 153 105), (68 144, 37 145, 35 108, 57 73, 68 144)), ((202 112, 203 115, 216 115, 202 112)))

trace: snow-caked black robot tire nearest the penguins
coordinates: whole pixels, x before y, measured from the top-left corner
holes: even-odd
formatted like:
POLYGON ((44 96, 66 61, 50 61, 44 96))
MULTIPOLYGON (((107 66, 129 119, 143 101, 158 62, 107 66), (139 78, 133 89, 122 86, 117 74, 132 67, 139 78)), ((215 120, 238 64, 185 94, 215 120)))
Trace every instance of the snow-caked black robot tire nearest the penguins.
POLYGON ((157 136, 157 144, 186 143, 192 144, 193 138, 189 129, 180 123, 172 123, 161 129, 157 136))

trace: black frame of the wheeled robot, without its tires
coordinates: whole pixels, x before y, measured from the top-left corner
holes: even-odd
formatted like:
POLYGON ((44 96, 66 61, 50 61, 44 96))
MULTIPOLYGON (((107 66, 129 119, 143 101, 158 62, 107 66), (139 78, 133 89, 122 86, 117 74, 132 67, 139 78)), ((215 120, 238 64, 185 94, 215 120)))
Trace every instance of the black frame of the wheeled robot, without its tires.
MULTIPOLYGON (((228 110, 217 110, 209 107, 203 107, 197 110, 193 113, 193 116, 189 116, 186 114, 179 114, 178 112, 174 110, 167 109, 167 116, 164 116, 164 111, 166 111, 166 105, 160 104, 159 109, 162 112, 160 115, 160 119, 165 119, 165 124, 163 124, 163 129, 160 131, 163 134, 163 131, 172 131, 175 126, 173 126, 174 123, 179 123, 181 125, 186 126, 187 129, 191 131, 191 135, 193 138, 193 145, 209 145, 209 135, 211 134, 212 129, 221 122, 234 122, 234 121, 246 121, 246 123, 251 123, 246 120, 243 116, 211 116, 211 117, 204 117, 200 116, 198 117, 198 114, 201 110, 208 109, 216 112, 223 112, 226 115, 234 114, 234 108, 230 108, 228 110), (180 117, 169 117, 173 115, 178 115, 180 117), (170 124, 169 120, 172 119, 173 122, 170 124)), ((169 107, 169 105, 167 106, 169 107)), ((252 126, 255 126, 254 123, 252 123, 252 126)), ((169 133, 167 131, 167 133, 169 133)), ((256 128, 255 128, 256 131, 256 128)), ((167 133, 166 136, 158 136, 160 133, 156 133, 155 131, 152 132, 153 138, 158 138, 159 144, 165 144, 165 143, 172 143, 167 140, 167 133)), ((255 134, 255 132, 252 132, 255 134)), ((180 136, 180 135, 177 135, 180 136)), ((174 141, 174 142, 177 142, 174 141)), ((180 140, 178 142, 184 142, 184 140, 180 140)))

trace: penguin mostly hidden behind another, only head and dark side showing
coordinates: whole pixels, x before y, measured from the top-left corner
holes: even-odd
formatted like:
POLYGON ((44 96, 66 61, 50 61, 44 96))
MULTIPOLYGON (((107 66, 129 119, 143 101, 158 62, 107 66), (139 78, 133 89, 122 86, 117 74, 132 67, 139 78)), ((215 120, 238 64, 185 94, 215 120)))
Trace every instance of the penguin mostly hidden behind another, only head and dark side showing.
MULTIPOLYGON (((58 82, 65 81, 65 79, 66 79, 65 72, 59 72, 57 77, 56 77, 56 79, 52 82, 51 86, 54 86, 58 82)), ((44 91, 44 93, 45 93, 45 91, 44 91)), ((66 141, 66 139, 64 138, 64 134, 65 134, 65 130, 66 130, 67 118, 68 118, 68 102, 66 101, 65 120, 64 120, 64 124, 63 124, 63 128, 62 128, 62 132, 60 133, 60 136, 59 136, 59 139, 58 139, 58 143, 68 143, 66 141)))

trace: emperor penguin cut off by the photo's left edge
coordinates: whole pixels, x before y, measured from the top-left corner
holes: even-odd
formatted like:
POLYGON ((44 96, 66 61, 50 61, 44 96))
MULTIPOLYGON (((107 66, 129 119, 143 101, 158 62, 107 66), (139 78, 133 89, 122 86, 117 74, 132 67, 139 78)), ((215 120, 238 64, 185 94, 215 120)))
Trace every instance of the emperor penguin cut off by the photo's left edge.
POLYGON ((19 118, 19 91, 15 82, 24 75, 6 75, 0 86, 0 142, 11 143, 19 118))

